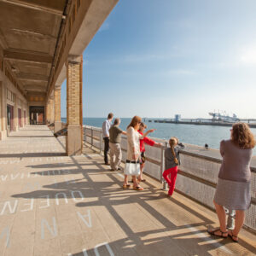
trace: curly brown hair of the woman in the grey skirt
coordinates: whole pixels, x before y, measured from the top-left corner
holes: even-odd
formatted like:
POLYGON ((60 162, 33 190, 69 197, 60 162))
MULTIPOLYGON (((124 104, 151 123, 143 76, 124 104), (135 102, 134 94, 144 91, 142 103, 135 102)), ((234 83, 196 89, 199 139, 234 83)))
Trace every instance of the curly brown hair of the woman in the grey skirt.
POLYGON ((253 132, 245 123, 236 123, 232 126, 231 140, 239 148, 254 148, 256 142, 253 132))

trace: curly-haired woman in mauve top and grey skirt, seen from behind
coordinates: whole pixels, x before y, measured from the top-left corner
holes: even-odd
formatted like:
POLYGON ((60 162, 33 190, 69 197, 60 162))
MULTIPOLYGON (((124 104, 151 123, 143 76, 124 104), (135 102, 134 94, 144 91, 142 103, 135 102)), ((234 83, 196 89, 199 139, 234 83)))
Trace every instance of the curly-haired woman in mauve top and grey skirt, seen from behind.
POLYGON ((219 228, 208 230, 214 236, 230 236, 238 241, 238 233, 245 219, 245 211, 250 207, 251 193, 250 161, 253 155, 255 139, 252 131, 245 123, 236 123, 230 130, 230 140, 220 143, 220 154, 223 157, 218 172, 218 183, 213 203, 218 215, 219 228), (226 214, 224 207, 236 210, 234 230, 226 230, 226 214))

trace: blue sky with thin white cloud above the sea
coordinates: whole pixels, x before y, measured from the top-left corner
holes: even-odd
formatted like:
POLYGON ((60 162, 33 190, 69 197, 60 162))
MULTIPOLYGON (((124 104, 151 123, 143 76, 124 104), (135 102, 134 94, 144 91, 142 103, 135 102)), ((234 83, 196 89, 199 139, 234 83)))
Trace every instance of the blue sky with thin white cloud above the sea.
POLYGON ((84 117, 256 118, 255 13, 255 0, 120 0, 84 50, 84 117))

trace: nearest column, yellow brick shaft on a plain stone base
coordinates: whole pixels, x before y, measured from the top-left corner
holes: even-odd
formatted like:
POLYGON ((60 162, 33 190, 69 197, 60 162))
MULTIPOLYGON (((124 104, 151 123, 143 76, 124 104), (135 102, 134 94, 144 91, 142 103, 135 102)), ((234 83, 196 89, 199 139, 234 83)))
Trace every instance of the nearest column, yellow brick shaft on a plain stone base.
POLYGON ((83 56, 67 59, 67 155, 82 153, 82 65, 83 56))

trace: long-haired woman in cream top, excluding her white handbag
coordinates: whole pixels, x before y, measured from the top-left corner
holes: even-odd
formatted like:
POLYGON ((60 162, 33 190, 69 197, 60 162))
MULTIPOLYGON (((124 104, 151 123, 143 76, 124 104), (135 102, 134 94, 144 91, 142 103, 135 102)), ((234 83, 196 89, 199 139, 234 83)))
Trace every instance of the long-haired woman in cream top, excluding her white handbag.
MULTIPOLYGON (((148 133, 153 132, 154 129, 148 130, 143 135, 139 134, 137 131, 141 124, 142 119, 139 116, 134 116, 131 119, 130 125, 127 126, 127 160, 126 162, 140 161, 140 139, 143 139, 148 135, 148 133)), ((143 190, 141 186, 137 183, 136 175, 132 176, 133 189, 143 190)), ((128 189, 130 184, 128 184, 128 176, 125 175, 125 181, 123 184, 123 189, 128 189)))

